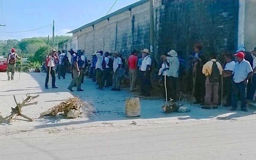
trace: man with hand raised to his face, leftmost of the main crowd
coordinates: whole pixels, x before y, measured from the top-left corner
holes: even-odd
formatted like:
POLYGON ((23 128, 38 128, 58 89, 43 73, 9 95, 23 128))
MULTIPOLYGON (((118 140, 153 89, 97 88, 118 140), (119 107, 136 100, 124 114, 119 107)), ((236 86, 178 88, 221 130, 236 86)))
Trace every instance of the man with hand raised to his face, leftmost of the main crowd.
POLYGON ((49 74, 52 76, 52 88, 58 88, 55 86, 55 62, 59 61, 57 51, 55 49, 51 49, 50 55, 47 55, 46 58, 46 66, 47 66, 47 75, 45 79, 44 87, 48 89, 48 82, 49 82, 49 74))

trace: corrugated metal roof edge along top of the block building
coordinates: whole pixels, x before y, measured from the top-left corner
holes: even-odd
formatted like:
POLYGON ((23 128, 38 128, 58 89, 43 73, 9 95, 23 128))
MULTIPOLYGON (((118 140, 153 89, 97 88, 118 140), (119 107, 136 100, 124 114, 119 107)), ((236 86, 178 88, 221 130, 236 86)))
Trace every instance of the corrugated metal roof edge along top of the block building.
POLYGON ((78 32, 78 31, 80 31, 81 29, 84 29, 84 28, 87 28, 87 27, 89 27, 89 26, 92 26, 92 25, 94 25, 94 24, 96 24, 96 23, 99 23, 99 22, 101 22, 101 21, 103 21, 103 20, 106 20, 106 19, 108 19, 108 18, 110 18, 110 17, 112 17, 112 16, 114 16, 114 15, 118 15, 119 13, 125 12, 125 11, 128 10, 129 8, 134 8, 134 7, 139 6, 139 5, 143 4, 143 3, 146 3, 146 2, 148 2, 148 1, 149 1, 149 0, 140 0, 139 2, 133 3, 133 4, 131 4, 131 5, 129 5, 129 6, 126 6, 126 7, 122 8, 122 9, 119 9, 119 10, 117 10, 116 12, 113 12, 113 13, 111 13, 111 14, 109 14, 109 15, 106 15, 105 17, 102 17, 102 18, 100 18, 100 19, 98 19, 98 20, 95 20, 95 21, 93 21, 93 22, 91 22, 91 23, 88 23, 88 24, 86 24, 86 25, 84 25, 84 26, 81 26, 81 27, 79 27, 79 28, 77 28, 77 29, 74 29, 73 31, 70 31, 70 32, 67 32, 67 33, 75 33, 75 32, 78 32))

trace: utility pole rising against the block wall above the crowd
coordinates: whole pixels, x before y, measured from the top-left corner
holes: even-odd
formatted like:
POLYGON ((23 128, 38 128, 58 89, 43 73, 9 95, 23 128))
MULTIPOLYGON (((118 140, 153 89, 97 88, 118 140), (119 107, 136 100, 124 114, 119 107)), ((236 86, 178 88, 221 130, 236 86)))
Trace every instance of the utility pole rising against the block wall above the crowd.
POLYGON ((153 10, 153 0, 150 0, 149 2, 149 20, 150 20, 150 52, 151 52, 151 58, 154 60, 154 10, 153 10))

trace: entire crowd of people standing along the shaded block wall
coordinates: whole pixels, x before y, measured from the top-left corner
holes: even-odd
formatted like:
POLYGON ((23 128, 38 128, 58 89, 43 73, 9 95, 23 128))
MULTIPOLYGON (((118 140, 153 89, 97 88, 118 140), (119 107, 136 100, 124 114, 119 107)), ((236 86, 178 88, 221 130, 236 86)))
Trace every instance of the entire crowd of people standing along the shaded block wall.
MULTIPOLYGON (((251 54, 240 48, 236 54, 227 53, 224 50, 220 55, 216 52, 210 52, 210 60, 207 61, 201 44, 194 47, 195 53, 191 56, 192 72, 192 96, 195 96, 195 104, 202 105, 203 109, 218 108, 222 98, 226 96, 224 106, 232 106, 232 111, 237 108, 237 100, 241 100, 241 110, 247 111, 246 100, 253 101, 256 90, 256 48, 251 54), (247 88, 248 80, 251 80, 250 87, 247 88), (248 90, 249 89, 249 90, 248 90)), ((141 51, 134 50, 128 58, 128 65, 125 65, 125 59, 119 52, 98 51, 93 53, 92 60, 87 61, 84 50, 79 49, 77 53, 70 49, 72 81, 68 87, 73 91, 81 89, 81 83, 84 78, 84 70, 90 68, 89 78, 96 81, 97 89, 102 90, 104 87, 111 87, 113 91, 121 90, 121 79, 125 76, 125 67, 128 66, 130 76, 130 91, 136 90, 138 78, 141 81, 140 91, 143 96, 150 96, 151 93, 151 70, 152 59, 151 52, 148 49, 141 51), (138 53, 141 52, 141 58, 138 53), (89 63, 91 62, 91 63, 89 63)), ((59 79, 62 76, 65 79, 67 55, 64 51, 57 54, 55 49, 47 56, 47 78, 45 87, 48 88, 49 74, 52 75, 52 88, 55 86, 55 62, 58 64, 59 79), (51 59, 51 61, 50 61, 51 59), (51 63, 50 63, 51 62, 51 63), (51 71, 49 73, 49 70, 51 71)), ((167 97, 169 100, 177 101, 177 83, 181 76, 181 70, 185 70, 185 60, 181 58, 175 50, 170 50, 167 54, 161 55, 161 64, 159 75, 166 79, 167 97)), ((189 72, 189 71, 188 71, 189 72)), ((255 100, 256 102, 256 100, 255 100)))

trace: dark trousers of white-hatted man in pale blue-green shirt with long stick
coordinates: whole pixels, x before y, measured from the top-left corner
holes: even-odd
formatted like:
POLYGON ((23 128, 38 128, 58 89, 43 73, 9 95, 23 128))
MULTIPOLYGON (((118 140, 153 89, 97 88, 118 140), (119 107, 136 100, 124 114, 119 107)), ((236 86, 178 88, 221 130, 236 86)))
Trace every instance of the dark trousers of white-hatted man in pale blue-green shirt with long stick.
MULTIPOLYGON (((166 77, 167 78, 167 77, 166 77)), ((167 80, 167 98, 177 101, 177 79, 173 76, 168 76, 167 80)))

